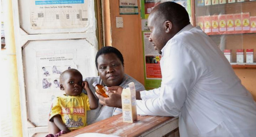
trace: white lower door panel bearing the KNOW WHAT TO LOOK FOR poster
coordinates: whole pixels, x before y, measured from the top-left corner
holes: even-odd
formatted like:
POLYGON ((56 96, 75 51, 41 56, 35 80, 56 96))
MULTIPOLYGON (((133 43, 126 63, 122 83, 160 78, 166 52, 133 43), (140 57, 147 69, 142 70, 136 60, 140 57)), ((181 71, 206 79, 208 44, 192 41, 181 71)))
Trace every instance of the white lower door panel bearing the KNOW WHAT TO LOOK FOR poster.
POLYGON ((33 41, 23 49, 27 119, 35 126, 47 126, 52 100, 60 90, 60 75, 70 68, 82 76, 97 76, 95 47, 85 39, 33 41))

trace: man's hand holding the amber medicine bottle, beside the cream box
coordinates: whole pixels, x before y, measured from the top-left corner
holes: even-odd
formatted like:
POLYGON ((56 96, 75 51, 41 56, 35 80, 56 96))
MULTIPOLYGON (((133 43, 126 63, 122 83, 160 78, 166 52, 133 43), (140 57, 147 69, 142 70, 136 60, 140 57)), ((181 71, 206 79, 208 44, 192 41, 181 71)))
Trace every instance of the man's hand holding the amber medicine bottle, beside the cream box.
POLYGON ((100 99, 100 104, 116 108, 122 108, 121 94, 123 88, 120 86, 114 86, 108 87, 108 90, 108 98, 105 98, 102 95, 95 92, 98 99, 100 99))

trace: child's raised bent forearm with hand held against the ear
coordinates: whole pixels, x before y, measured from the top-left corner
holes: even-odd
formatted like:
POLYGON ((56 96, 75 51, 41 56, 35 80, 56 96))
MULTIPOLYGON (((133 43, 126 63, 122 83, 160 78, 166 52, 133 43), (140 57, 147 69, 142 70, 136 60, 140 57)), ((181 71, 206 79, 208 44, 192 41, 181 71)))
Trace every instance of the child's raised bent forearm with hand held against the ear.
POLYGON ((92 93, 91 89, 89 88, 88 82, 84 81, 82 83, 82 86, 83 86, 84 90, 86 91, 86 93, 88 95, 89 103, 90 103, 90 109, 98 108, 97 99, 95 98, 94 94, 92 93))

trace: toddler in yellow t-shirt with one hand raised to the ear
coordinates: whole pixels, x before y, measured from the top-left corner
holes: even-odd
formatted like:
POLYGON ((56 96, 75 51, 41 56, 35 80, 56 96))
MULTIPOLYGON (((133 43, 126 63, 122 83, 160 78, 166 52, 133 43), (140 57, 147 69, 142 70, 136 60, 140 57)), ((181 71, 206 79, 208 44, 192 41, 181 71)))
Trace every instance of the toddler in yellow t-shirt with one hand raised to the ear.
POLYGON ((88 83, 82 81, 82 75, 76 69, 71 68, 62 72, 60 89, 65 94, 55 98, 49 114, 49 121, 54 121, 60 132, 46 137, 57 137, 87 126, 86 111, 98 107, 98 102, 88 83), (83 88, 87 95, 82 93, 83 88))

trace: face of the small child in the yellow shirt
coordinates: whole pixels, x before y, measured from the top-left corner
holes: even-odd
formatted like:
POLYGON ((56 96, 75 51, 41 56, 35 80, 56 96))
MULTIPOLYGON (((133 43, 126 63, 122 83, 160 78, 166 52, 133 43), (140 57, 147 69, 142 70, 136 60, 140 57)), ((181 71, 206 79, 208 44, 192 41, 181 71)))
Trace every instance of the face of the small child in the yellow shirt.
POLYGON ((67 95, 77 96, 82 93, 82 76, 78 72, 68 72, 63 76, 63 88, 67 95))

